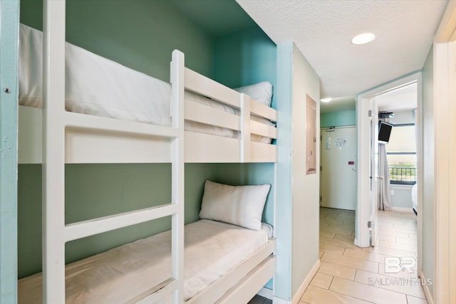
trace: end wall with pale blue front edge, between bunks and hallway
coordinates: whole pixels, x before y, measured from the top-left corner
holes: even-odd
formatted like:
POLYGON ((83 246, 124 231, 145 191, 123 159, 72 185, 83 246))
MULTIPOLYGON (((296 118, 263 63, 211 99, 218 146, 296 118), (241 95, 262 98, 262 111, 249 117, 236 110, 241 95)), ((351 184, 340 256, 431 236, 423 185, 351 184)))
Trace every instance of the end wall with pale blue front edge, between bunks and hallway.
POLYGON ((320 80, 291 42, 277 46, 277 94, 275 296, 291 300, 318 261, 319 172, 306 175, 306 94, 317 102, 317 132, 320 123, 320 80))

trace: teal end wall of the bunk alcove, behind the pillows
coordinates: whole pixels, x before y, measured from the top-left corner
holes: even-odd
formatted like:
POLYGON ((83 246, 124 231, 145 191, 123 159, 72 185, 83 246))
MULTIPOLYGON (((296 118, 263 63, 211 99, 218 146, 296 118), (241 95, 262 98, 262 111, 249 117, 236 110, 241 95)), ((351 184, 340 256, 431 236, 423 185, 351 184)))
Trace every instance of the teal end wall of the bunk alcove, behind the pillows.
MULTIPOLYGON (((277 49, 258 26, 219 37, 214 42, 214 80, 237 88, 269 81, 273 86, 271 106, 276 108, 277 49)), ((274 164, 214 164, 214 180, 227 184, 274 185, 274 164)), ((263 221, 274 224, 274 187, 271 187, 263 221)), ((272 281, 266 284, 272 289, 272 281)))

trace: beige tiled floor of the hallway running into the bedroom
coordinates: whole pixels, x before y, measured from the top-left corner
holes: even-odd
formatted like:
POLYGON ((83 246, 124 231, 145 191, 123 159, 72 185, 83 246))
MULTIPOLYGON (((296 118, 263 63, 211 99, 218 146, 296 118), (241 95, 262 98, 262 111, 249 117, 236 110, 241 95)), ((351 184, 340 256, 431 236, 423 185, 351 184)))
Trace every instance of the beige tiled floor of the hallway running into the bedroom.
POLYGON ((376 246, 359 248, 353 245, 355 211, 320 209, 321 268, 300 304, 427 303, 416 266, 411 267, 417 251, 415 214, 379 211, 378 221, 376 246), (398 257, 405 258, 405 269, 399 269, 398 257), (385 258, 393 258, 389 268, 385 258))

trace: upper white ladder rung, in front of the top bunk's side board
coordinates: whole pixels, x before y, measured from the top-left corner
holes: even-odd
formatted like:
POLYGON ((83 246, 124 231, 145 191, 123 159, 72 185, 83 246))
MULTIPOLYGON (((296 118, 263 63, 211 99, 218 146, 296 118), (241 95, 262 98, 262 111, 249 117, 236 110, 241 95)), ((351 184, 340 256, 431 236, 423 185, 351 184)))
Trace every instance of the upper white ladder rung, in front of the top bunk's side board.
POLYGON ((64 121, 66 127, 77 129, 100 130, 105 132, 117 132, 155 137, 178 137, 176 128, 151 125, 143 122, 133 122, 129 120, 118 120, 109 117, 99 117, 75 112, 65 112, 64 121))

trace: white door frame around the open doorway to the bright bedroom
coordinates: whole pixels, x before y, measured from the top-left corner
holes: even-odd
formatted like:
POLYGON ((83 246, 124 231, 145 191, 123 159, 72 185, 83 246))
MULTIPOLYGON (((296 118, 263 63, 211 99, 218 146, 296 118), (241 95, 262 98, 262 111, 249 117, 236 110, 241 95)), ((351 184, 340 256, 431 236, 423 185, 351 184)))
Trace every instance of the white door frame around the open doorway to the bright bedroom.
MULTIPOLYGON (((410 73, 401 78, 390 81, 383 85, 378 85, 375 88, 366 90, 363 93, 356 95, 356 125, 358 125, 358 192, 356 205, 355 219, 355 245, 359 247, 370 246, 370 234, 368 229, 368 221, 371 221, 371 204, 366 204, 366 201, 371 201, 371 117, 368 115, 371 110, 371 99, 375 96, 387 93, 390 90, 407 85, 410 83, 418 84, 418 118, 416 120, 418 138, 423 135, 420 129, 421 117, 421 72, 410 73)), ((418 166, 420 166, 423 152, 421 147, 417 147, 418 166)), ((421 182, 421 172, 418 170, 417 182, 421 182)), ((420 199, 418 200, 418 209, 420 209, 420 199)), ((421 218, 418 215, 418 244, 420 244, 421 218)), ((418 246, 418 265, 420 264, 420 246, 418 246)))

